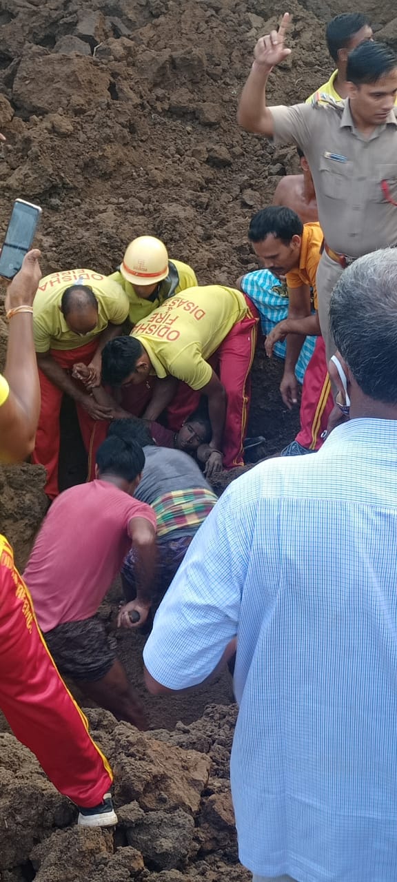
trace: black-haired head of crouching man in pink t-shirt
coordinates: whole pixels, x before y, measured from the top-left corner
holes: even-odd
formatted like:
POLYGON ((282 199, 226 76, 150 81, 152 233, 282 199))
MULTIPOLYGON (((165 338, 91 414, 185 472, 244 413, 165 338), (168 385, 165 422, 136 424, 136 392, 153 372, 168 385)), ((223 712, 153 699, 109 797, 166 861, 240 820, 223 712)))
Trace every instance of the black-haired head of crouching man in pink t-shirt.
POLYGON ((131 496, 145 466, 145 453, 132 439, 107 437, 96 453, 95 478, 115 483, 131 496))

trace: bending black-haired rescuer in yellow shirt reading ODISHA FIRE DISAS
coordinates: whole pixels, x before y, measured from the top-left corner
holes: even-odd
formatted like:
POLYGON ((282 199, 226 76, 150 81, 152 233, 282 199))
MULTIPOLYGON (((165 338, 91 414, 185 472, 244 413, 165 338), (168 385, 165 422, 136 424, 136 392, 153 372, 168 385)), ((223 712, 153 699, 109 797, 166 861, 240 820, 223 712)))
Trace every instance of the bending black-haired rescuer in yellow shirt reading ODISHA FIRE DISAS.
POLYGON ((102 381, 131 385, 133 392, 156 377, 152 398, 139 415, 156 420, 168 407, 173 430, 206 395, 212 431, 206 474, 222 465, 243 465, 257 325, 258 311, 241 291, 221 285, 187 288, 139 322, 130 337, 106 344, 102 381))

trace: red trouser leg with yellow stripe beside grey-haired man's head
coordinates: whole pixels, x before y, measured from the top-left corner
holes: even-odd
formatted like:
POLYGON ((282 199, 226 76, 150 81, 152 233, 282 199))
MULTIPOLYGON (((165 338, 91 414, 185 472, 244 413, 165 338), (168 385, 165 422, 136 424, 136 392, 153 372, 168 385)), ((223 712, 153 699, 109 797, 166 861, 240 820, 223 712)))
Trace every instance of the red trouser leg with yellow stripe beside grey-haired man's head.
POLYGON ((301 430, 295 440, 308 450, 318 450, 323 443, 321 434, 326 430, 332 409, 333 393, 326 363, 326 344, 322 337, 318 337, 303 377, 301 430))

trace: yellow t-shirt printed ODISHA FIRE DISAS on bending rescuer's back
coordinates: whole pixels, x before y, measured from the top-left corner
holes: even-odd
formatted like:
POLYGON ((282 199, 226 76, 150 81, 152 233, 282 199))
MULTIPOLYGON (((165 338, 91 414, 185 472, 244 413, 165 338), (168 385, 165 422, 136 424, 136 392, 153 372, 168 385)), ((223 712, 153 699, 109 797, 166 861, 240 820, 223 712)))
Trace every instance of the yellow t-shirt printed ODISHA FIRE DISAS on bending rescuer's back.
POLYGON ((173 295, 131 332, 146 349, 157 377, 177 377, 202 389, 212 368, 206 358, 248 312, 241 291, 207 285, 173 295))

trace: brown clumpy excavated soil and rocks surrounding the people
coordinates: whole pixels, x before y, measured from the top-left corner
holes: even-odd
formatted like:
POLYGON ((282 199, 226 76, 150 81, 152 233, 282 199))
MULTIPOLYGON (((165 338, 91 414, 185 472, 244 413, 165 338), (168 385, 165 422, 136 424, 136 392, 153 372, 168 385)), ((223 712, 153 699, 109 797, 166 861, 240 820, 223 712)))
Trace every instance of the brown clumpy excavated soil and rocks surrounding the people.
MULTIPOLYGON (((395 46, 390 0, 360 8, 395 46)), ((273 72, 273 102, 300 101, 328 77, 324 21, 347 10, 345 0, 292 0, 294 51, 273 72)), ((239 130, 236 101, 254 42, 280 12, 275 0, 0 0, 0 131, 7 138, 0 236, 20 197, 43 208, 45 273, 76 265, 108 273, 143 233, 159 235, 201 283, 230 284, 253 269, 251 213, 270 200, 280 176, 296 171, 296 157, 239 130)), ((4 341, 0 318, 0 363, 4 341)), ((281 404, 280 377, 281 364, 259 349, 250 432, 266 437, 269 454, 296 431, 296 414, 281 404)), ((68 486, 82 480, 85 460, 67 403, 63 426, 68 486)), ((42 484, 40 468, 0 472, 0 527, 20 566, 45 511, 42 484)), ((103 615, 111 620, 110 603, 103 615)), ((143 694, 142 645, 137 635, 119 643, 143 694)), ((2 882, 248 880, 236 863, 228 791, 236 717, 229 677, 194 698, 145 700, 152 726, 161 728, 147 736, 89 711, 115 766, 121 825, 114 836, 71 827, 71 805, 28 751, 0 735, 2 882)))

